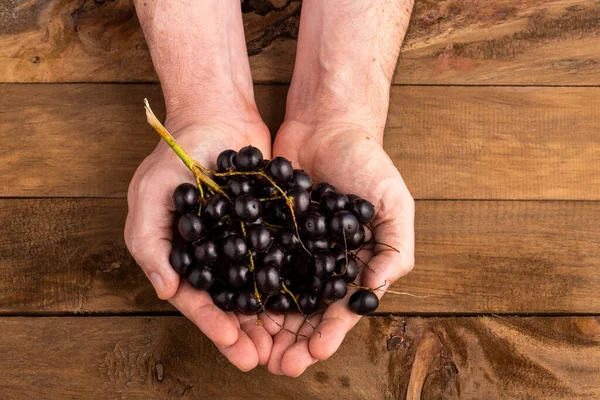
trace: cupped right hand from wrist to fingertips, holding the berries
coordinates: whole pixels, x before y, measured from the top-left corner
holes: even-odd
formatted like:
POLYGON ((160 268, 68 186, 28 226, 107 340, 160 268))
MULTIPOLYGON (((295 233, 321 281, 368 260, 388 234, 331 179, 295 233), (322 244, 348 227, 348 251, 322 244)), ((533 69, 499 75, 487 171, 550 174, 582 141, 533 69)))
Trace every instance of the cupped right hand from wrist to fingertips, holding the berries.
MULTIPOLYGON (((414 264, 414 201, 383 150, 381 136, 378 129, 339 121, 319 119, 316 124, 288 121, 277 134, 273 155, 288 158, 294 168, 304 169, 315 182, 328 182, 341 192, 359 195, 375 205, 371 226, 376 241, 400 252, 381 245, 372 251, 362 250, 359 256, 373 272, 363 269, 358 282, 371 288, 385 282, 382 288, 385 289, 414 264)), ((321 335, 304 323, 301 315, 286 315, 284 327, 308 338, 296 339, 283 330, 275 335, 269 371, 298 376, 318 360, 329 358, 360 319, 348 308, 348 298, 353 292, 349 290, 343 300, 311 318, 321 335)), ((375 293, 383 295, 383 291, 375 293)))

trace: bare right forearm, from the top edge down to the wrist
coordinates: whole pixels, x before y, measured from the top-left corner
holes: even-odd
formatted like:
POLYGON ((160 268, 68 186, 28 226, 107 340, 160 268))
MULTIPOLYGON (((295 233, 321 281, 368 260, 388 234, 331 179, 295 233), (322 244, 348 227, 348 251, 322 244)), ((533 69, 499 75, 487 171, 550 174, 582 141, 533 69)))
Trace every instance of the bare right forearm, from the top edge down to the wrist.
POLYGON ((287 120, 381 130, 412 0, 305 0, 287 120))

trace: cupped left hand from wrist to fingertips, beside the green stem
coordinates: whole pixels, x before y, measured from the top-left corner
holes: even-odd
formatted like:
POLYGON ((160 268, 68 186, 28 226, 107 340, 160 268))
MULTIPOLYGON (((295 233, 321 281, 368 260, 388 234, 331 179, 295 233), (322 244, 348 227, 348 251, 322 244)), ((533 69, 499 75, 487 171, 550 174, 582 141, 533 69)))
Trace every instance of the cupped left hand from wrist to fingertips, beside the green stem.
MULTIPOLYGON (((214 168, 218 154, 228 148, 252 144, 265 157, 271 153, 269 131, 258 115, 227 115, 211 121, 186 120, 183 124, 171 118, 166 126, 181 146, 207 168, 214 168)), ((153 134, 149 127, 148 131, 153 134)), ((161 141, 139 166, 129 186, 127 247, 158 296, 169 300, 196 324, 231 363, 243 371, 266 364, 273 343, 271 333, 277 332, 276 326, 270 323, 257 326, 258 316, 221 311, 208 293, 180 279, 169 263, 175 215, 172 194, 183 182, 195 183, 192 173, 161 141)))

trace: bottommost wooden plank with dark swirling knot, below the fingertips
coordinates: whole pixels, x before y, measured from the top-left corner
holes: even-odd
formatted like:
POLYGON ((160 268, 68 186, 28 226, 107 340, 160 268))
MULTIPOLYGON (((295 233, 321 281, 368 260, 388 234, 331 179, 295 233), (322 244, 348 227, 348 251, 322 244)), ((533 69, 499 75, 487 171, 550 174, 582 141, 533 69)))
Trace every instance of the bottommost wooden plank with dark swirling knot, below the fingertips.
POLYGON ((297 380, 237 371, 182 317, 3 318, 0 327, 0 390, 17 400, 600 396, 597 317, 363 318, 297 380))

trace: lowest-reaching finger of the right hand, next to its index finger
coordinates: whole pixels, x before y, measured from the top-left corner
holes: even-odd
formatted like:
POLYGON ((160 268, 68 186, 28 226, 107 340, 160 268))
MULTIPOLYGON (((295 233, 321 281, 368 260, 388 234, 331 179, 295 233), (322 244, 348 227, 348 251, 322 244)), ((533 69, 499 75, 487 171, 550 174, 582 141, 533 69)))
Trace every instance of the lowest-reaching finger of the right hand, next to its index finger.
POLYGON ((309 318, 310 324, 307 322, 302 325, 298 332, 299 336, 296 343, 291 345, 283 354, 281 359, 281 371, 290 377, 298 377, 311 365, 318 360, 312 356, 309 350, 309 339, 311 336, 318 336, 313 326, 319 325, 323 314, 317 314, 309 318), (312 325, 312 326, 311 326, 312 325), (300 336, 304 335, 304 336, 300 336))

